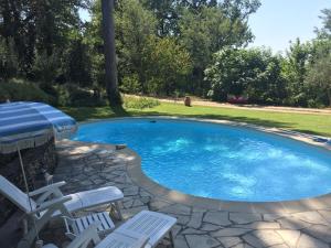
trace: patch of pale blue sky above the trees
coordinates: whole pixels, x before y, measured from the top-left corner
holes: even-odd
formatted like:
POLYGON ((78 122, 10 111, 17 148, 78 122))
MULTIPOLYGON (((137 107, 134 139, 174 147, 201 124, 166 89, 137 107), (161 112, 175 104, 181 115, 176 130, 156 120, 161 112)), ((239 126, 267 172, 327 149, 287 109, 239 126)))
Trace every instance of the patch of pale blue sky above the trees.
POLYGON ((252 14, 248 24, 255 35, 252 46, 271 47, 284 52, 289 41, 299 37, 308 41, 316 36, 314 28, 321 28, 322 9, 331 8, 331 0, 260 0, 261 6, 252 14))

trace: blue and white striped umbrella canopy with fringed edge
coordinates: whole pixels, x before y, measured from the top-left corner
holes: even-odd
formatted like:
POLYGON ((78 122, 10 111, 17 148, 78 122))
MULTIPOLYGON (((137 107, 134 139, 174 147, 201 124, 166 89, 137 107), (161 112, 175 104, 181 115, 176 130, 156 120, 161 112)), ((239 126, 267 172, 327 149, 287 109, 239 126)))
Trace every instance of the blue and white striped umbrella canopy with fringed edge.
POLYGON ((0 104, 0 153, 11 153, 67 138, 77 130, 76 121, 42 103, 0 104))

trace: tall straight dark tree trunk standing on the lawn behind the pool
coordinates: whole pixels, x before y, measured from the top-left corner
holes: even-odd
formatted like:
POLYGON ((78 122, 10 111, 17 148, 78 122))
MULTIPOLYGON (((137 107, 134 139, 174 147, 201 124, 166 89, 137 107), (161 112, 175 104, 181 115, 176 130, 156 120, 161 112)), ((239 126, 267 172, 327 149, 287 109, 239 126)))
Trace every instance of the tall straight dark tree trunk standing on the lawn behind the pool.
POLYGON ((114 0, 102 0, 106 89, 110 106, 121 104, 117 83, 114 0))

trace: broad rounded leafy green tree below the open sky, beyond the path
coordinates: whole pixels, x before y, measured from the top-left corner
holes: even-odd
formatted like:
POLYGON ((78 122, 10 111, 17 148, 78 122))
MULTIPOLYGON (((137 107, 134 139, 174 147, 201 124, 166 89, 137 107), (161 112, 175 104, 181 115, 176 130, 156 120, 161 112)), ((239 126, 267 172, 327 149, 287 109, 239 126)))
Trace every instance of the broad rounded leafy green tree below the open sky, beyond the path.
POLYGON ((215 53, 205 71, 210 96, 225 100, 227 95, 248 95, 255 104, 281 104, 285 97, 279 57, 263 48, 226 47, 215 53))

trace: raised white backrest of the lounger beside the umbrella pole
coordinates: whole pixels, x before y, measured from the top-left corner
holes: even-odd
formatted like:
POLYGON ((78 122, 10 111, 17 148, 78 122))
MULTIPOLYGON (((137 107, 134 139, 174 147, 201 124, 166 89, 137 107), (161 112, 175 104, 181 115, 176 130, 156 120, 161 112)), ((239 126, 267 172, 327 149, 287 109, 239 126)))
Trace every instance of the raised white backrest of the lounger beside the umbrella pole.
POLYGON ((28 195, 2 175, 0 175, 0 193, 25 213, 31 212, 31 206, 32 209, 36 207, 36 203, 32 198, 30 198, 30 206, 28 195))

